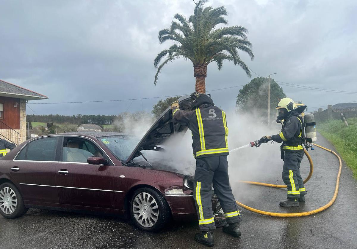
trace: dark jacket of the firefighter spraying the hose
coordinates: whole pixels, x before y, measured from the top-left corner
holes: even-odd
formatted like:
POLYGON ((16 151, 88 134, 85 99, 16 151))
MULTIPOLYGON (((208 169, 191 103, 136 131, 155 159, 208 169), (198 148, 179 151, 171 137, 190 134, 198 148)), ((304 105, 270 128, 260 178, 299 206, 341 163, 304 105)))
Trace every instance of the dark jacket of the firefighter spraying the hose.
POLYGON ((298 112, 292 112, 283 122, 283 128, 277 135, 271 136, 271 139, 281 145, 282 150, 302 150, 302 120, 298 112))

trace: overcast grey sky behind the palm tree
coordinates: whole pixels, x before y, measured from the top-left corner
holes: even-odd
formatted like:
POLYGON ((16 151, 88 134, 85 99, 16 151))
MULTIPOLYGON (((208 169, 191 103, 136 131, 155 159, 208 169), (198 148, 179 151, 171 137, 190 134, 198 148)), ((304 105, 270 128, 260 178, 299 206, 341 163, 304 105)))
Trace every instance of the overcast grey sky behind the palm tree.
MULTIPOLYGON (((277 73, 273 76, 278 81, 357 92, 356 0, 213 0, 208 5, 225 5, 229 25, 250 31, 255 59, 241 57, 257 74, 277 73)), ((49 96, 30 103, 192 92, 191 62, 181 59, 167 65, 154 86, 153 60, 170 45, 159 44, 159 30, 169 27, 176 13, 188 18, 193 8, 192 0, 1 1, 0 79, 49 96)), ((211 63, 206 89, 249 81, 232 63, 224 63, 221 71, 211 63)), ((357 102, 356 94, 282 87, 310 107, 357 102)), ((239 89, 214 91, 212 98, 217 106, 234 108, 239 89)), ((151 111, 158 100, 30 107, 38 114, 117 115, 151 111)), ((33 112, 27 108, 27 113, 33 112)))

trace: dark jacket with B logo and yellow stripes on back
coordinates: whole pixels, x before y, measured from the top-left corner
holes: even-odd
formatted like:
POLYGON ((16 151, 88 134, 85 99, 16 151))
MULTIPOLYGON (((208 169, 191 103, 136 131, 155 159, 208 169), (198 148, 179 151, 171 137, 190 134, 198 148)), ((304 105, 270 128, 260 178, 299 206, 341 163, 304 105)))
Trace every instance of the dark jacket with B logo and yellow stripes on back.
POLYGON ((195 158, 229 155, 226 113, 220 108, 203 104, 196 110, 182 111, 174 107, 172 117, 191 130, 195 158))

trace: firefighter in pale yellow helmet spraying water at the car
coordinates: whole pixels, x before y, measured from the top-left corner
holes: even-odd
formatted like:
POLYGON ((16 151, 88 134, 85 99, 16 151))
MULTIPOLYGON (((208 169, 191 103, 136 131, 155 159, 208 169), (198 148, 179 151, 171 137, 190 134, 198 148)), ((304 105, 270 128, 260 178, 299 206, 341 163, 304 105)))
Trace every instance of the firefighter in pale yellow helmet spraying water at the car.
POLYGON ((281 132, 265 136, 281 145, 281 159, 284 161, 282 178, 287 186, 287 200, 279 203, 282 207, 298 207, 299 201, 305 202, 305 189, 300 175, 300 163, 304 156, 302 118, 300 114, 306 106, 297 107, 290 98, 284 98, 276 106, 277 122, 283 122, 281 132))

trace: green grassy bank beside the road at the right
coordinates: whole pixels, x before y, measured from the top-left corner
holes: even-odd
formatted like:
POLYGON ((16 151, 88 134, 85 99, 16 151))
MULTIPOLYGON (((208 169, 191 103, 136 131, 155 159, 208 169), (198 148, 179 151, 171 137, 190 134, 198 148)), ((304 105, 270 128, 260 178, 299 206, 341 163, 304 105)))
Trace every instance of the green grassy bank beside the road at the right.
POLYGON ((317 127, 318 132, 336 147, 357 180, 357 118, 349 118, 347 122, 348 127, 341 120, 323 122, 317 127))

